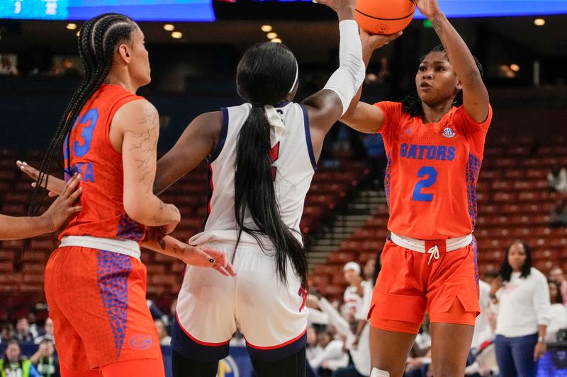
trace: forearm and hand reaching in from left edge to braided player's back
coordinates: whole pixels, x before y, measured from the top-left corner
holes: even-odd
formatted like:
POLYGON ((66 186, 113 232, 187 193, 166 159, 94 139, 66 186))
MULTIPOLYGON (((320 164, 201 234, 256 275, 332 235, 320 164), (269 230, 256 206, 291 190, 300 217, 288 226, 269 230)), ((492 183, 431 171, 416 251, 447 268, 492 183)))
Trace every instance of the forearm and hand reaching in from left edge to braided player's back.
POLYGON ((81 210, 81 206, 74 205, 82 191, 79 178, 80 176, 73 175, 64 185, 61 195, 41 216, 14 217, 0 214, 0 240, 30 238, 61 228, 69 216, 81 210))

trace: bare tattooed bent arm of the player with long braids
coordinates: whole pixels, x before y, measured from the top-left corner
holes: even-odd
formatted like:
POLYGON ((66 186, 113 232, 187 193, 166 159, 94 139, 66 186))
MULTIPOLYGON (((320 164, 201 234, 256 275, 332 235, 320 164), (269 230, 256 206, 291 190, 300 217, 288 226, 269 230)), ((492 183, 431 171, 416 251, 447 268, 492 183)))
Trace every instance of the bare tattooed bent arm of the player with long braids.
POLYGON ((126 214, 145 226, 166 226, 166 233, 173 231, 181 219, 179 210, 162 202, 152 190, 159 137, 157 110, 147 100, 126 103, 113 117, 110 136, 122 153, 126 214))

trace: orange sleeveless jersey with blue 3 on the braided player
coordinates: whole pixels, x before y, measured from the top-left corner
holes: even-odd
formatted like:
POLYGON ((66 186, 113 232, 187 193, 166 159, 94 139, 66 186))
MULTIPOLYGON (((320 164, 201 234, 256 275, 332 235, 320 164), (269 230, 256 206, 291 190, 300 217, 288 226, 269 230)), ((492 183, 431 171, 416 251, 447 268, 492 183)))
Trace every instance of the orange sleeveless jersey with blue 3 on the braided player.
MULTIPOLYGON (((145 228, 130 219, 123 205, 122 155, 108 132, 120 106, 142 99, 118 85, 103 85, 87 101, 69 137, 71 173, 81 173, 82 211, 73 216, 63 236, 125 238, 140 242, 145 228)), ((67 141, 63 146, 67 168, 67 141)), ((69 174, 65 174, 65 180, 69 174)))

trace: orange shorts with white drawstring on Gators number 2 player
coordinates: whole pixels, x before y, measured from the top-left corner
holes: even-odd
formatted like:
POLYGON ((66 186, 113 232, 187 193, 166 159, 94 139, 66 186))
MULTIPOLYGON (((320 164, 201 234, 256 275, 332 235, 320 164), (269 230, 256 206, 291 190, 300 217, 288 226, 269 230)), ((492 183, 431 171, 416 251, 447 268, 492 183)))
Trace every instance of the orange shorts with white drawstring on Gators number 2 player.
POLYGON ((369 311, 371 325, 417 334, 426 310, 431 323, 475 324, 480 313, 476 240, 449 253, 444 241, 426 241, 426 250, 432 245, 439 248, 438 260, 386 242, 369 311))

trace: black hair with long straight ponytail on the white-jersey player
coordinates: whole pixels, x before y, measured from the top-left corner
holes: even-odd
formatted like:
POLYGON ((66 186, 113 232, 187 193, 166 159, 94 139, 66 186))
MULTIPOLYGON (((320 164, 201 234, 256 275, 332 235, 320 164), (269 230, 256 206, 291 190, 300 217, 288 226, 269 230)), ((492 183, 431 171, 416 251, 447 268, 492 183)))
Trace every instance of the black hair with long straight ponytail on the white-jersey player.
MULTIPOLYGON (((237 69, 237 89, 252 103, 250 114, 237 139, 235 166, 235 217, 242 231, 253 236, 265 251, 261 236, 268 236, 276 251, 276 272, 286 282, 287 262, 307 287, 307 258, 296 235, 283 224, 274 187, 270 156, 270 124, 264 105, 286 98, 296 79, 297 63, 291 51, 280 43, 266 42, 245 52, 237 69), (245 224, 251 216, 254 224, 245 224)), ((238 244, 238 242, 237 242, 238 244)))

